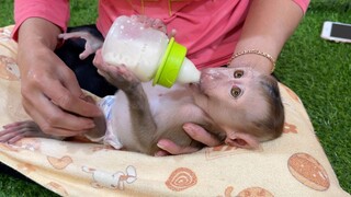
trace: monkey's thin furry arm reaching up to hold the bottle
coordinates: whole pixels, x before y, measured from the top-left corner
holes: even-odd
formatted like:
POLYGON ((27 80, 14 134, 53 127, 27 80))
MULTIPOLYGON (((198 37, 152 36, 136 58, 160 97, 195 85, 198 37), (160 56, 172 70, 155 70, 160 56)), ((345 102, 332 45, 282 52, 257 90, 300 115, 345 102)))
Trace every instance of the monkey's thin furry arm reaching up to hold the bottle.
MULTIPOLYGON (((99 63, 100 51, 95 56, 95 66, 99 73, 102 74, 111 84, 122 90, 128 102, 128 111, 131 115, 131 136, 133 141, 137 144, 132 146, 140 152, 149 153, 154 142, 157 125, 150 111, 148 97, 144 92, 140 81, 124 66, 110 66, 106 63, 99 63)), ((131 137, 128 136, 128 137, 131 137)), ((124 142, 122 142, 124 143, 124 142)))

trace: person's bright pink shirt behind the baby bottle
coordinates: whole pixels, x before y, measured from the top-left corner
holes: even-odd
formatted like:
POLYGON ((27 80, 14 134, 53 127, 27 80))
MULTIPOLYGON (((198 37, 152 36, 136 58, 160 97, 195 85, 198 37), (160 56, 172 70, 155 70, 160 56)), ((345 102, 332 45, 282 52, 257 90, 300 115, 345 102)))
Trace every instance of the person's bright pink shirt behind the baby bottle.
MULTIPOLYGON (((306 12, 309 0, 293 0, 306 12)), ((248 0, 100 0, 97 26, 105 36, 118 15, 145 14, 158 18, 176 39, 188 47, 188 58, 197 68, 218 67, 230 58, 246 19, 248 0)), ((32 16, 47 19, 67 28, 68 0, 15 0, 15 31, 32 16)))

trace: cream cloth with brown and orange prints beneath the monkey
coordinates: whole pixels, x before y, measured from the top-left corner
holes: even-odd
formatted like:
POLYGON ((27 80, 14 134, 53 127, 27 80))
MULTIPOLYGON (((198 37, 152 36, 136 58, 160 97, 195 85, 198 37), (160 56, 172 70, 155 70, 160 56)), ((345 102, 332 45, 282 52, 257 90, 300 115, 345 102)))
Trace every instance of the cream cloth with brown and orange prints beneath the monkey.
MULTIPOLYGON (((21 105, 12 28, 0 28, 0 125, 30 118, 21 105)), ((340 188, 302 101, 284 84, 280 90, 284 132, 262 143, 262 151, 219 146, 154 158, 98 143, 25 138, 0 143, 0 162, 60 196, 350 197, 340 188)))

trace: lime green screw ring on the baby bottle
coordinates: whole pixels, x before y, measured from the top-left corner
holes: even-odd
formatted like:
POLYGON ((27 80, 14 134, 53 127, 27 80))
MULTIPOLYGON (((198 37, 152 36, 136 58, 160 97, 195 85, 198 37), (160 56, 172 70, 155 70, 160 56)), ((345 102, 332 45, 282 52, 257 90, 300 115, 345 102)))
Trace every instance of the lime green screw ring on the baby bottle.
POLYGON ((186 55, 186 47, 180 45, 172 37, 169 40, 161 63, 158 67, 152 85, 159 84, 171 88, 177 81, 179 70, 186 55))

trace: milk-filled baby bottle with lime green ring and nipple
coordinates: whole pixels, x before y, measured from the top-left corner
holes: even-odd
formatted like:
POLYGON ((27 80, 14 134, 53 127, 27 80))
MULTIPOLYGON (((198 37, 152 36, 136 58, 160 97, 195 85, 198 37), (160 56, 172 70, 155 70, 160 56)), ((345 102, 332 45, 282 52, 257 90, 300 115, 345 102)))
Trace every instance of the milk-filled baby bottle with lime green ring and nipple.
POLYGON ((186 48, 174 38, 128 16, 117 18, 102 46, 103 60, 126 66, 146 82, 166 88, 200 80, 200 71, 186 57, 186 48))

